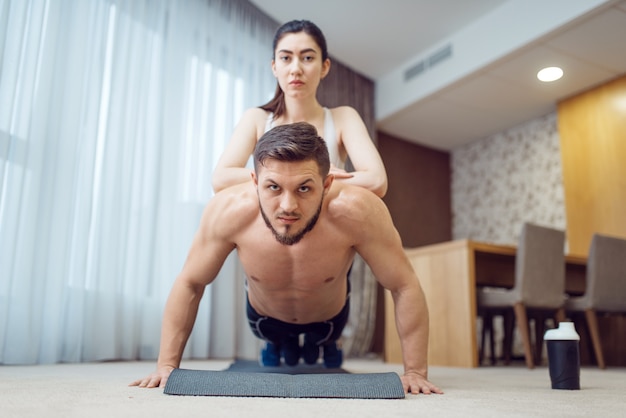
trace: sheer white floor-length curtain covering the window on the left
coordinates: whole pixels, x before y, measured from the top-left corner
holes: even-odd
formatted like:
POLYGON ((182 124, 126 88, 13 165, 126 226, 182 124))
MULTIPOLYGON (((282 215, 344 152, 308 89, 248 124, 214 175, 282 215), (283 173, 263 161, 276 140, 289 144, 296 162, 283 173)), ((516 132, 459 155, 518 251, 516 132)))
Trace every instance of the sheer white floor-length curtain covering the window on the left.
MULTIPOLYGON (((0 0, 0 363, 156 358, 275 29, 238 0, 0 0)), ((186 358, 256 355, 235 256, 186 358)))

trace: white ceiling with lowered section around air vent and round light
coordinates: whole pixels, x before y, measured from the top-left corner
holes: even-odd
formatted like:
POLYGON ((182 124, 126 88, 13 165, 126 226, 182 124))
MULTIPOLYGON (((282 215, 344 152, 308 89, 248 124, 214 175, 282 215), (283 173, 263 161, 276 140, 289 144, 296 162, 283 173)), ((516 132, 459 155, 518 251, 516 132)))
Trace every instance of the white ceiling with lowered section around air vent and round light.
POLYGON ((280 23, 315 22, 333 59, 376 83, 377 128, 435 149, 545 115, 626 74, 626 0, 250 1, 280 23), (406 79, 446 46, 449 59, 406 79), (564 77, 540 83, 546 65, 564 77))

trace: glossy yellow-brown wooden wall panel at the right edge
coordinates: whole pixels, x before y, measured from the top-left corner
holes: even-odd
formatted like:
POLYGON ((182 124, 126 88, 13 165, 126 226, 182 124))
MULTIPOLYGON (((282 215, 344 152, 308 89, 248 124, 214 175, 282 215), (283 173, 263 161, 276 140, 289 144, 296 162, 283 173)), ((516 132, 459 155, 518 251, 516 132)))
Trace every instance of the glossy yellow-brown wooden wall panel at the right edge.
POLYGON ((626 237, 626 76, 558 105, 569 250, 626 237))

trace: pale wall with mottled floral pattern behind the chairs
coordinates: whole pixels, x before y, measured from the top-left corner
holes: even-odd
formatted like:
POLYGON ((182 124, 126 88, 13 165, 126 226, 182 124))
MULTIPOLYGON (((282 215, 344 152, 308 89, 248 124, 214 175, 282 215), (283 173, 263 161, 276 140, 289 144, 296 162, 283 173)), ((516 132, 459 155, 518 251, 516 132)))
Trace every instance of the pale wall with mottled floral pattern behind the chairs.
POLYGON ((556 113, 451 155, 454 239, 516 245, 524 222, 565 230, 556 113))

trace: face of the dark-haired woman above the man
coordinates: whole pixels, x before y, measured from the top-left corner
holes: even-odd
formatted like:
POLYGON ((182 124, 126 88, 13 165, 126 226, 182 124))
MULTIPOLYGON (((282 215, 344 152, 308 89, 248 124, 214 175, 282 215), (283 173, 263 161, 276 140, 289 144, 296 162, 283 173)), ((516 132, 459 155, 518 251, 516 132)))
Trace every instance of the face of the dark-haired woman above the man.
POLYGON ((276 45, 272 71, 288 97, 315 95, 329 69, 330 60, 323 60, 322 50, 305 32, 288 33, 276 45))

